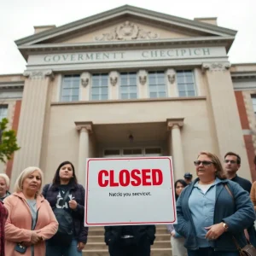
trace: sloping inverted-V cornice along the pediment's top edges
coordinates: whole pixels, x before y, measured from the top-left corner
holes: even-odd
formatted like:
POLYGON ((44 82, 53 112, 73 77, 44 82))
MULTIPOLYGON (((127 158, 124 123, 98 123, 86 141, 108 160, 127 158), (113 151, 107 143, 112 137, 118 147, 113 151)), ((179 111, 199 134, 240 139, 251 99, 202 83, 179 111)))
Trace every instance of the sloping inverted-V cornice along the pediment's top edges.
POLYGON ((210 34, 216 34, 218 36, 235 37, 236 35, 236 31, 221 26, 214 26, 212 24, 203 23, 197 20, 188 20, 172 15, 162 14, 148 9, 141 9, 130 5, 124 5, 116 9, 111 9, 106 12, 102 12, 98 15, 92 15, 82 20, 77 20, 68 23, 67 25, 58 26, 56 28, 44 32, 39 32, 26 38, 21 38, 19 40, 16 40, 15 44, 17 44, 18 46, 22 44, 38 44, 40 41, 44 41, 49 38, 56 38, 65 33, 75 32, 84 29, 85 27, 100 24, 102 22, 106 23, 106 20, 114 19, 121 15, 133 15, 137 17, 143 17, 148 20, 154 20, 154 22, 165 22, 173 26, 185 27, 190 30, 207 32, 210 34))

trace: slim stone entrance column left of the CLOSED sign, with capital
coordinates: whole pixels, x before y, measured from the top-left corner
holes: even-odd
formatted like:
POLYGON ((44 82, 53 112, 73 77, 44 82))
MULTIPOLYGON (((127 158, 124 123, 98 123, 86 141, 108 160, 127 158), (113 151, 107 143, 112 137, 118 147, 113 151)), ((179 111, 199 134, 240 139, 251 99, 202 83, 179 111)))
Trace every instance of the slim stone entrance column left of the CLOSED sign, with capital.
POLYGON ((92 122, 75 122, 79 131, 79 171, 78 181, 85 185, 86 159, 90 157, 90 132, 92 122))

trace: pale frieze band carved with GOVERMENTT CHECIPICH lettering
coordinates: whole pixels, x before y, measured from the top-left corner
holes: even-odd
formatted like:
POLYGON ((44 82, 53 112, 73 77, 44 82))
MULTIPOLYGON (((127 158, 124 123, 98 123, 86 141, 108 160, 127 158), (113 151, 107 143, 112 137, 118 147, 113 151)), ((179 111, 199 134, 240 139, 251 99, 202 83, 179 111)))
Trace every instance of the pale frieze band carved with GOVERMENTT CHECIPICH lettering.
POLYGON ((28 66, 57 65, 76 63, 100 63, 117 61, 157 61, 226 57, 224 47, 172 48, 172 49, 133 49, 112 51, 88 51, 49 55, 29 55, 28 66))

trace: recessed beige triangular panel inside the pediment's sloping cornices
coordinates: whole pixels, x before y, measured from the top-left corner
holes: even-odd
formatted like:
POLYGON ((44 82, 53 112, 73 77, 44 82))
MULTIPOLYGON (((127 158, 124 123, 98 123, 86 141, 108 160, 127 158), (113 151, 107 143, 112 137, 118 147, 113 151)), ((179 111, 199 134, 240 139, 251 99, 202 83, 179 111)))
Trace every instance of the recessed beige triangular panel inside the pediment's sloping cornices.
POLYGON ((131 15, 120 17, 119 20, 110 22, 105 26, 95 26, 91 29, 84 29, 77 34, 66 38, 55 38, 48 43, 81 44, 90 42, 117 42, 117 41, 139 41, 158 40, 172 38, 196 38, 214 36, 204 32, 191 32, 185 29, 170 28, 148 24, 147 20, 135 19, 131 15))

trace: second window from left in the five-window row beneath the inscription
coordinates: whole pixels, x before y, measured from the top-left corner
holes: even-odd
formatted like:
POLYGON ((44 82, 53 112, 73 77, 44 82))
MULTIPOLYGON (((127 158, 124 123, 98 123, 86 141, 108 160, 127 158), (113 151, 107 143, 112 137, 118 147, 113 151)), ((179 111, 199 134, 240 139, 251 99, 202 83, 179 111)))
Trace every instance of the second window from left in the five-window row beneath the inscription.
POLYGON ((108 100, 108 73, 92 75, 90 99, 92 101, 108 100))

